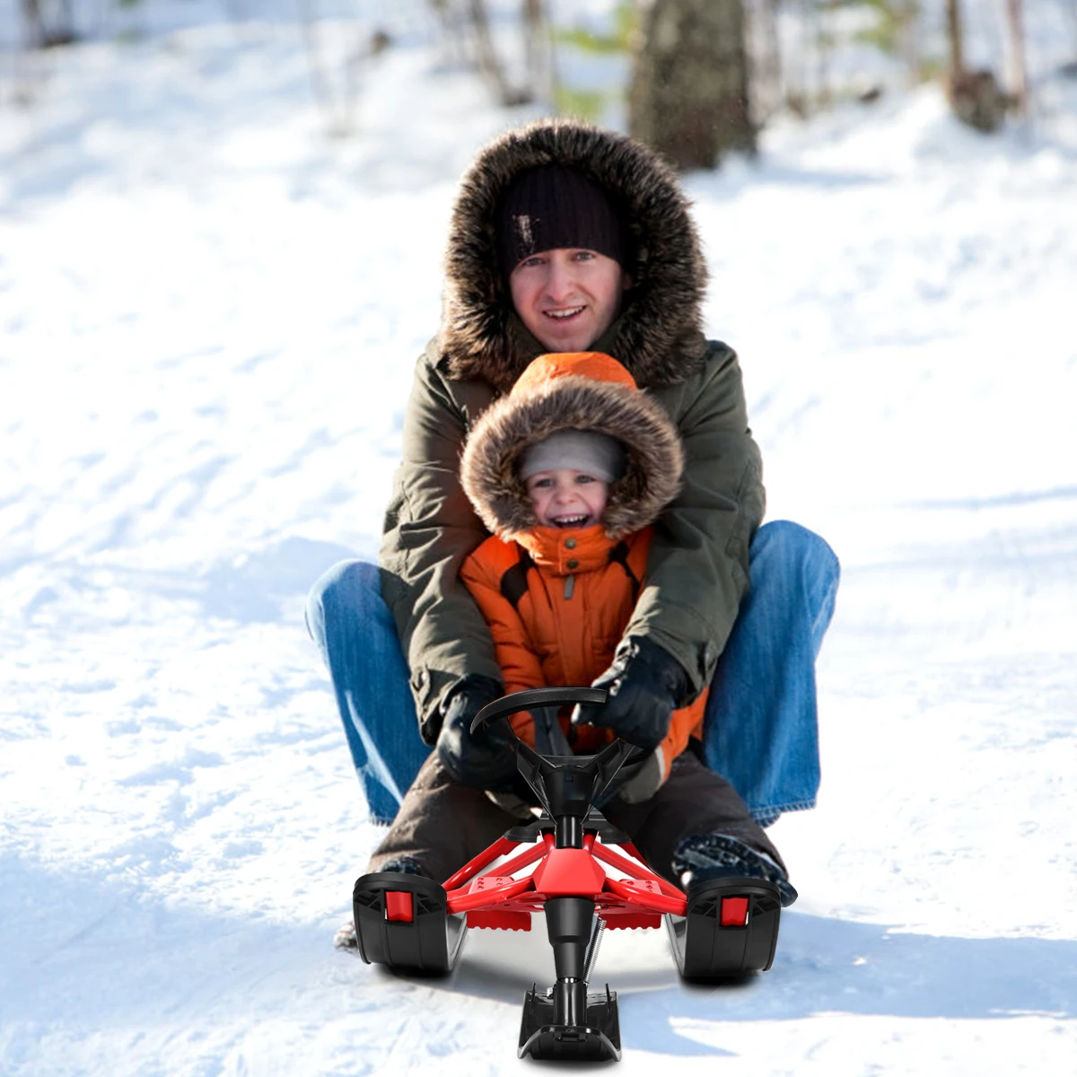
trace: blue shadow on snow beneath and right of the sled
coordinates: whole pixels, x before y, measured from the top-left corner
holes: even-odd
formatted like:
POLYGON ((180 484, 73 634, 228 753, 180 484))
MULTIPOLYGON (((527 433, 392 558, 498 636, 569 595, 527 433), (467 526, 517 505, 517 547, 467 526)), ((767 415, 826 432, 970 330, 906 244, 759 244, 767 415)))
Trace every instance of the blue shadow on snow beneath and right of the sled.
MULTIPOLYGON (((544 980, 553 982, 553 962, 542 920, 535 920, 528 936, 518 937, 527 941, 503 937, 477 961, 474 954, 470 959, 468 938, 452 976, 432 982, 500 1002, 522 999, 535 981, 549 987, 544 980), (502 961, 494 963, 491 957, 499 952, 502 961)), ((822 1012, 1077 1017, 1077 941, 1068 939, 921 935, 886 924, 787 912, 771 970, 715 984, 682 981, 672 957, 651 939, 638 951, 643 959, 609 973, 600 956, 596 980, 609 979, 618 992, 623 1030, 631 1030, 638 1044, 666 1053, 721 1053, 679 1035, 673 1025, 683 1020, 782 1021, 822 1012)))

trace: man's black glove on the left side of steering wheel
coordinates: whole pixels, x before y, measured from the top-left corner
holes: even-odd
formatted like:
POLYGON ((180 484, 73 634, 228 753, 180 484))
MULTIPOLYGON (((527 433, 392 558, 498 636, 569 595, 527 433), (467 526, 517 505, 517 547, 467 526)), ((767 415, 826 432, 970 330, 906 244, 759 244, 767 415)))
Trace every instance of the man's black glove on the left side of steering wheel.
POLYGON ((472 674, 442 704, 444 719, 437 735, 437 755, 445 769, 463 785, 501 793, 515 786, 516 752, 504 722, 471 731, 475 715, 504 694, 496 681, 472 674))

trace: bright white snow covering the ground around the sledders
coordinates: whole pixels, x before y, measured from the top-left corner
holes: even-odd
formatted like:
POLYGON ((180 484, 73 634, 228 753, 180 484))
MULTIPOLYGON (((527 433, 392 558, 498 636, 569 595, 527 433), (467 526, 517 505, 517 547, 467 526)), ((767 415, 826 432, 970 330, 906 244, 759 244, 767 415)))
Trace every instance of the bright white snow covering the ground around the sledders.
MULTIPOLYGON (((422 6, 350 139, 288 18, 209 4, 5 96, 5 1075, 530 1065, 541 920, 472 932, 447 981, 331 946, 378 833, 303 600, 375 554, 456 180, 532 114, 422 6)), ((659 933, 607 933, 625 1073, 1073 1072, 1077 93, 1038 70, 1030 127, 926 87, 686 181, 769 517, 843 583, 774 967, 693 988, 659 933)))

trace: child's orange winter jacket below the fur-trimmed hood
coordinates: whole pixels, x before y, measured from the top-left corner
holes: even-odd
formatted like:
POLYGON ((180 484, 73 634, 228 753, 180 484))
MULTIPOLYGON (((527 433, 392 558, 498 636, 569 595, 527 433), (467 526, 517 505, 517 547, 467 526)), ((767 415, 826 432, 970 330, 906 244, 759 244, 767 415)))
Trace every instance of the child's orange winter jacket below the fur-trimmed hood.
MULTIPOLYGON (((635 606, 653 529, 621 538, 606 536, 602 524, 561 530, 535 527, 515 542, 493 535, 466 559, 461 578, 490 626, 505 691, 555 685, 589 685, 613 661, 635 606)), ((661 743, 666 773, 673 758, 701 736, 704 691, 673 712, 661 743)), ((613 739, 605 729, 570 730, 570 711, 561 727, 575 737, 574 750, 595 752, 613 739)), ((513 728, 534 744, 527 714, 513 728)))

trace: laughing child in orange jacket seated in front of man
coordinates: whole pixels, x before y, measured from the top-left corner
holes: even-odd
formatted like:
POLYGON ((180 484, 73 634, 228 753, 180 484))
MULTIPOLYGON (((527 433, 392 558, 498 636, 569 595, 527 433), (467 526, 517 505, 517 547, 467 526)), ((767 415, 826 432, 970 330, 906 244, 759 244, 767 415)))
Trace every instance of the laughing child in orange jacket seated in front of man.
MULTIPOLYGON (((601 353, 541 355, 482 414, 467 437, 461 481, 492 535, 461 577, 490 626, 505 693, 587 685, 611 666, 616 671, 621 632, 647 601, 653 524, 677 494, 682 470, 663 408, 601 353)), ((671 699, 686 693, 684 684, 669 687, 671 699)), ((602 812, 655 871, 686 890, 718 876, 766 878, 792 904, 796 891, 763 828, 732 787, 686 751, 704 700, 705 693, 671 705, 661 736, 618 728, 652 755, 602 812)), ((534 743, 532 717, 512 721, 534 743)), ((579 753, 613 736, 573 726, 568 714, 559 725, 579 753)), ((367 871, 447 878, 518 822, 520 802, 504 795, 512 768, 504 735, 473 739, 461 727, 443 736, 367 871), (475 773, 476 755, 487 757, 490 775, 481 789, 460 780, 475 773)))

